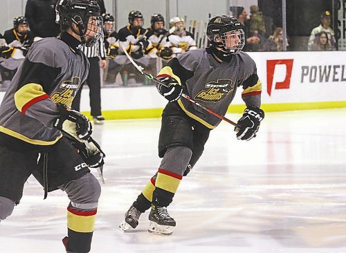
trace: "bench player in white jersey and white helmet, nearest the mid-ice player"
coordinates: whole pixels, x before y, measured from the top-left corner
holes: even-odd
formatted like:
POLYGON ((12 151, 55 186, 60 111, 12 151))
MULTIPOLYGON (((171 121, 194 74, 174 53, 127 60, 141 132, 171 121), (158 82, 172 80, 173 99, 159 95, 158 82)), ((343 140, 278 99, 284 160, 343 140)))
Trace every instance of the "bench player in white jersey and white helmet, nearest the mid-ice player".
POLYGON ((181 17, 170 19, 170 35, 166 41, 168 43, 164 46, 172 48, 175 55, 197 49, 196 41, 192 33, 185 30, 185 21, 181 17))

